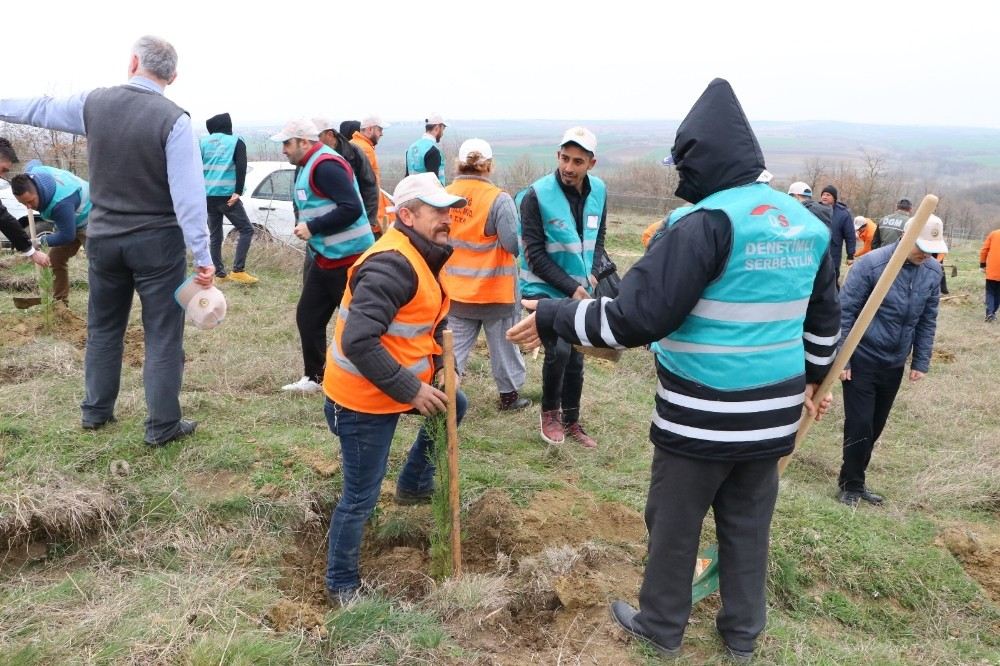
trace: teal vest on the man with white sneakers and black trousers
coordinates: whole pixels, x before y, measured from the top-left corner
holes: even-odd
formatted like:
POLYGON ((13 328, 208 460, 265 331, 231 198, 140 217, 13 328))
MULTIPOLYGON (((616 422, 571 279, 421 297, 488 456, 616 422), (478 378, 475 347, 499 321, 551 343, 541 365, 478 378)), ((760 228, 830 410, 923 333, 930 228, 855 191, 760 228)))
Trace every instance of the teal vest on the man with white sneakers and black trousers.
MULTIPOLYGON (((299 222, 309 222, 337 208, 337 202, 316 194, 309 185, 313 169, 316 168, 316 163, 320 161, 322 156, 328 156, 326 159, 329 159, 329 156, 344 159, 337 151, 323 145, 299 170, 299 175, 295 179, 295 205, 299 209, 299 222)), ((344 161, 344 163, 347 162, 344 161)), ((346 229, 341 229, 329 236, 313 236, 309 239, 310 250, 327 259, 343 259, 351 255, 361 254, 375 243, 375 235, 372 233, 371 225, 368 224, 368 215, 365 213, 364 204, 361 203, 361 190, 358 189, 357 178, 354 178, 354 192, 361 205, 361 215, 358 219, 346 229)))

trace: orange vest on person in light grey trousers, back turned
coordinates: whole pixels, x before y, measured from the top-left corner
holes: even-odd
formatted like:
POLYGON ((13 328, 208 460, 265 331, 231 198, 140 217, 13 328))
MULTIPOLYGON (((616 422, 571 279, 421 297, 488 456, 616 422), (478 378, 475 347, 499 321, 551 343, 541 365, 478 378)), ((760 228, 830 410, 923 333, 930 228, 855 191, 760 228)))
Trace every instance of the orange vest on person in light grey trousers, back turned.
POLYGON ((497 236, 485 235, 486 219, 500 188, 478 178, 460 178, 445 188, 466 199, 451 209, 448 244, 454 252, 441 270, 448 296, 461 303, 514 303, 517 264, 497 236))

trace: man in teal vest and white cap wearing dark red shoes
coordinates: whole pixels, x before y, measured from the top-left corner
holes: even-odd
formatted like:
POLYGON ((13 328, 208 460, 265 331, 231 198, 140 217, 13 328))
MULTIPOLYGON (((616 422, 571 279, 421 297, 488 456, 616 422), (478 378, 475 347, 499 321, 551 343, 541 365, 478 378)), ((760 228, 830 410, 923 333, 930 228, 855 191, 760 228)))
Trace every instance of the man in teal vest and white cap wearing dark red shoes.
MULTIPOLYGON (((597 280, 594 257, 604 253, 607 189, 589 171, 597 164, 597 137, 583 127, 566 131, 558 166, 517 195, 521 209, 520 291, 525 298, 587 299, 597 280)), ((545 344, 540 431, 549 444, 569 436, 592 449, 580 425, 583 355, 565 340, 545 344)))

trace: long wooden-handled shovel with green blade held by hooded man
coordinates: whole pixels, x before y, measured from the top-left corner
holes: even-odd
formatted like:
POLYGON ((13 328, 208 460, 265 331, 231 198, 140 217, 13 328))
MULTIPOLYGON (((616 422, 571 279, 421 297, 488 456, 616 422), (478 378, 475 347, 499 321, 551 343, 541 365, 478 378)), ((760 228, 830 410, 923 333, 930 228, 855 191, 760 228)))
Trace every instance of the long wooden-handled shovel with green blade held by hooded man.
MULTIPOLYGON (((896 275, 899 273, 899 269, 903 266, 903 262, 906 261, 906 257, 909 256, 910 252, 913 250, 913 246, 917 242, 917 236, 923 231, 924 225, 927 224, 927 220, 930 218, 931 213, 934 212, 934 208, 937 206, 938 198, 933 194, 928 194, 924 197, 923 201, 920 202, 920 207, 917 208, 916 215, 913 216, 913 224, 910 228, 906 230, 903 237, 899 240, 899 245, 896 246, 895 251, 892 253, 892 257, 889 258, 889 263, 886 264, 885 270, 882 271, 881 277, 879 277, 878 282, 875 283, 875 287, 872 289, 872 293, 868 296, 868 301, 865 302, 865 306, 861 309, 860 314, 858 314, 857 320, 854 322, 854 326, 851 327, 851 331, 847 334, 844 339, 844 344, 841 346, 840 351, 837 353, 837 357, 833 359, 833 363, 830 365, 830 370, 827 371, 826 377, 820 383, 819 388, 813 394, 814 398, 819 401, 822 400, 822 396, 830 392, 833 387, 833 383, 840 378, 840 373, 843 372, 844 368, 847 367, 847 362, 851 359, 851 354, 857 348, 858 343, 861 342, 861 338, 864 336, 865 331, 868 330, 868 325, 871 323, 872 318, 875 317, 875 313, 878 311, 879 306, 882 305, 882 301, 885 299, 886 293, 889 291, 889 287, 892 286, 893 281, 896 279, 896 275)), ((795 433, 795 444, 792 449, 792 453, 799 448, 799 444, 805 439, 806 434, 809 432, 809 428, 812 427, 814 419, 809 415, 809 412, 802 410, 802 419, 799 421, 799 429, 795 433)), ((788 467, 788 463, 792 459, 792 453, 778 461, 778 474, 781 475, 785 472, 785 468, 788 467)), ((691 586, 691 603, 695 604, 712 594, 719 589, 719 548, 716 545, 711 545, 704 549, 702 552, 698 553, 698 560, 695 566, 695 577, 694 582, 691 586)))

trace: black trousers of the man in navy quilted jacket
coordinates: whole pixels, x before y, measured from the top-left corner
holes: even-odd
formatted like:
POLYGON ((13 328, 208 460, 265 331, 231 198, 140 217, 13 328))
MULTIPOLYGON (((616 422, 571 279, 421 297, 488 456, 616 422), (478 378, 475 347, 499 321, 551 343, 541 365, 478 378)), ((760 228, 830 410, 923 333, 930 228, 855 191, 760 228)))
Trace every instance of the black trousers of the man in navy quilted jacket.
POLYGON ((841 490, 863 492, 872 449, 882 435, 892 403, 903 381, 903 368, 883 368, 870 361, 851 361, 851 381, 844 387, 844 464, 841 490))

